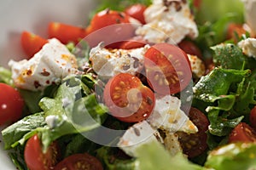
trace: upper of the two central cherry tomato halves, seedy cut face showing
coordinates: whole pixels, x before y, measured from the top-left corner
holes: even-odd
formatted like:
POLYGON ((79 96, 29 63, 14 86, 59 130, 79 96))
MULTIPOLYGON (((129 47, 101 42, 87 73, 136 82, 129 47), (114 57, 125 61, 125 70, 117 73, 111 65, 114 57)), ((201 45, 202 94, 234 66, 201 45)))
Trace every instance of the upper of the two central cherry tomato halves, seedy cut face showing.
POLYGON ((145 53, 148 84, 159 94, 177 94, 189 85, 192 73, 187 54, 168 43, 158 43, 145 53))

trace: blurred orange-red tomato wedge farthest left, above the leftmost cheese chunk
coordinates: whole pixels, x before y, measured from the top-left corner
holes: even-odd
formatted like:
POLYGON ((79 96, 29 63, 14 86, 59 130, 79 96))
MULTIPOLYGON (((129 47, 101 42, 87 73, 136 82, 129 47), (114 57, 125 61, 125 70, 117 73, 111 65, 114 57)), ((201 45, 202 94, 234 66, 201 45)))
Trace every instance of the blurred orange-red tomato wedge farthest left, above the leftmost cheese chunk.
POLYGON ((20 37, 20 42, 24 52, 27 54, 27 59, 30 59, 34 54, 38 53, 48 41, 31 32, 23 31, 20 37))

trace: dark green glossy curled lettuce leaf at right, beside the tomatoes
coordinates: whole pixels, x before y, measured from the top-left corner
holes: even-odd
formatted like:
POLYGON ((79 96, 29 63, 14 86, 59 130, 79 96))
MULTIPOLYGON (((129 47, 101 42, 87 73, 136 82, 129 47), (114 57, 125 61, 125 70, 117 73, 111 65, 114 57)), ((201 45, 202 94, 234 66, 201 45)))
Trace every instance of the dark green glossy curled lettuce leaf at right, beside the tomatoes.
POLYGON ((247 115, 247 112, 239 111, 249 110, 248 106, 253 100, 253 88, 244 86, 249 74, 250 70, 216 68, 195 84, 195 99, 211 104, 206 106, 205 111, 210 122, 209 133, 212 135, 228 135, 247 115), (241 102, 241 99, 244 101, 241 102), (238 108, 240 102, 242 107, 238 108))

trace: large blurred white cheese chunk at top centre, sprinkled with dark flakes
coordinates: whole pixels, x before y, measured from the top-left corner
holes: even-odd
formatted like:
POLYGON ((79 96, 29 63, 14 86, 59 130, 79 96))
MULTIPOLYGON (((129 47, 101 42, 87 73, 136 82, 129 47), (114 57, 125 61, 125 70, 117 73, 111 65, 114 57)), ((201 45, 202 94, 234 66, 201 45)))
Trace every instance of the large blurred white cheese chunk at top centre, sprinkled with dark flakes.
POLYGON ((186 36, 198 36, 194 15, 186 1, 154 0, 144 11, 144 17, 146 25, 140 26, 136 34, 148 42, 176 44, 186 36))

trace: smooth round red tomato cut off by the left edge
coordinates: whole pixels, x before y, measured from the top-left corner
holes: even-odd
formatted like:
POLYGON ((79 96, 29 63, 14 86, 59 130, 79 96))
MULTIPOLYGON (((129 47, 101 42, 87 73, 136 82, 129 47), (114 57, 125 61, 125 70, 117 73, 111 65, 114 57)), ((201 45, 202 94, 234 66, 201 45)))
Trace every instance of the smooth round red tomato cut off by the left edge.
POLYGON ((0 125, 18 121, 24 105, 18 90, 8 84, 0 83, 0 125))

